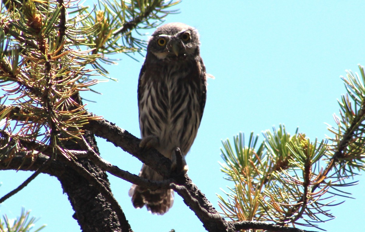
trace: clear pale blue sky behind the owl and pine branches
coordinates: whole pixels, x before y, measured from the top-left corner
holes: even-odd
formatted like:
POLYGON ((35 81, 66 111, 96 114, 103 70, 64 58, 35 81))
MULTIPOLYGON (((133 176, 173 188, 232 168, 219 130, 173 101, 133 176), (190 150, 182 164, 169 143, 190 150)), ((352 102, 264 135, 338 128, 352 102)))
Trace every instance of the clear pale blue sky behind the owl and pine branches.
MULTIPOLYGON (((365 6, 363 1, 183 0, 176 8, 181 13, 169 15, 166 23, 183 22, 199 30, 201 56, 207 72, 215 76, 208 80, 203 120, 187 163, 193 182, 219 209, 216 193, 222 194, 220 188, 231 184, 219 171, 222 139, 239 132, 261 134, 280 123, 292 133, 299 127, 311 140, 330 135, 324 123, 334 124, 337 99, 345 93, 339 77, 346 69, 358 72, 357 64, 365 65, 365 6)), ((82 94, 97 101, 88 103, 89 111, 139 137, 137 81, 143 57, 135 56, 140 62, 125 55, 118 57, 122 58, 119 65, 107 69, 119 82, 97 85, 101 96, 82 94)), ((138 174, 141 162, 102 139, 97 142, 104 159, 138 174)), ((29 175, 1 171, 0 196, 29 175)), ((132 207, 130 183, 109 177, 134 231, 205 231, 177 194, 173 208, 164 216, 155 216, 145 208, 132 207)), ((337 218, 321 224, 321 228, 363 230, 365 178, 356 180, 360 180, 359 185, 346 189, 356 199, 333 207, 337 218)), ((5 201, 0 214, 16 217, 22 206, 41 218, 37 225, 48 224, 45 232, 80 231, 67 196, 54 177, 35 179, 5 201)))

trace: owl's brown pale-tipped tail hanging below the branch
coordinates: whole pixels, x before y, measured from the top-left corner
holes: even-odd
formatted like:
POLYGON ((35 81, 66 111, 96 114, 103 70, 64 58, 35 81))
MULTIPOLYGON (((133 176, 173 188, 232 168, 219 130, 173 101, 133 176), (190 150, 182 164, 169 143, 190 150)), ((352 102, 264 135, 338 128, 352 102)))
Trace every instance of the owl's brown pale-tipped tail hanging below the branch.
MULTIPOLYGON (((140 177, 161 181, 163 178, 147 165, 143 165, 140 177)), ((147 210, 153 214, 163 215, 168 212, 174 203, 174 192, 171 189, 150 190, 144 187, 132 185, 128 192, 132 197, 134 208, 142 208, 146 205, 147 210)))

